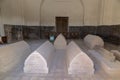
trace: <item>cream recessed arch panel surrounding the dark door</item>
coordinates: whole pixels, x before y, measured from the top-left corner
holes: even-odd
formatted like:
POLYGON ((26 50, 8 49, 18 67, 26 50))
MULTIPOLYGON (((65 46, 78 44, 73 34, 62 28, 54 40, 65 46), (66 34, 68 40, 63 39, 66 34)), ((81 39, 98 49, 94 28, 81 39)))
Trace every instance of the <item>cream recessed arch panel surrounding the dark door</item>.
POLYGON ((69 17, 69 26, 83 25, 83 3, 81 0, 43 0, 40 23, 55 26, 55 17, 69 17))

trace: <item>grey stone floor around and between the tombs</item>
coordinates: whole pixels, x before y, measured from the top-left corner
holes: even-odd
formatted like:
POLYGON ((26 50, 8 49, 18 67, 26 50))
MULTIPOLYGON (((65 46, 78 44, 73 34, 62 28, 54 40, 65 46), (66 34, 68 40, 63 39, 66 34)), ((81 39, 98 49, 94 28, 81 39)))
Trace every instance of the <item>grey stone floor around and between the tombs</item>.
MULTIPOLYGON (((28 44, 31 46, 32 51, 34 51, 37 47, 39 47, 43 42, 46 40, 27 40, 28 44)), ((87 47, 84 45, 82 40, 74 40, 80 48, 84 52, 90 56, 90 58, 93 60, 95 64, 95 75, 85 75, 85 74, 79 74, 79 75, 68 75, 66 73, 66 67, 64 63, 64 54, 55 54, 54 55, 54 61, 53 64, 56 64, 51 68, 51 72, 49 74, 25 74, 23 73, 23 65, 18 66, 16 69, 12 70, 11 72, 8 73, 0 73, 0 80, 120 80, 119 76, 110 76, 106 74, 97 61, 89 55, 87 52, 87 47), (59 70, 56 71, 55 68, 59 70), (60 71, 63 70, 63 71, 60 71)), ((70 40, 68 40, 70 42, 70 40)), ((105 43, 105 48, 108 50, 111 49, 117 49, 120 50, 120 46, 112 45, 109 43, 105 43)), ((24 62, 21 62, 24 64, 24 62)))

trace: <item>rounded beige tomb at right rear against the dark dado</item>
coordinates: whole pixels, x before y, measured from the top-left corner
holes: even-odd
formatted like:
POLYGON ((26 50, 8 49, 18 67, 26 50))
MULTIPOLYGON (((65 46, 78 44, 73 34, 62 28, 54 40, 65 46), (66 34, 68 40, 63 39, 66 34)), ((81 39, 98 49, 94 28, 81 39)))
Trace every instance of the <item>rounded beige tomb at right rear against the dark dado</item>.
POLYGON ((96 35, 88 34, 84 38, 84 42, 91 49, 95 48, 96 46, 100 46, 100 47, 104 46, 104 41, 102 40, 102 38, 96 35))

